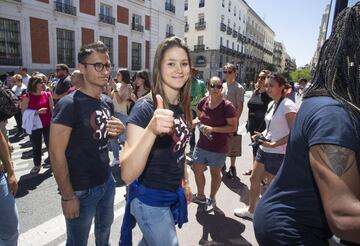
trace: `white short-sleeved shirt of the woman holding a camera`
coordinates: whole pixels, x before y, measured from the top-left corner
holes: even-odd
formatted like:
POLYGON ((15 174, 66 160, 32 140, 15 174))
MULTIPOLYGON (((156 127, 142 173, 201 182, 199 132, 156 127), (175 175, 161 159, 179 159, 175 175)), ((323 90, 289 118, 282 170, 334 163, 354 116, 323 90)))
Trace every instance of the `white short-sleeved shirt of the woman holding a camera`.
MULTIPOLYGON (((281 101, 278 109, 274 114, 275 108, 276 105, 274 105, 274 101, 270 102, 268 106, 268 112, 265 115, 267 129, 265 137, 272 142, 278 141, 279 139, 289 135, 290 129, 287 124, 286 114, 290 112, 296 113, 298 110, 295 103, 286 97, 281 101)), ((275 148, 269 148, 260 145, 260 148, 262 151, 267 153, 285 154, 286 145, 287 144, 283 144, 275 148)))

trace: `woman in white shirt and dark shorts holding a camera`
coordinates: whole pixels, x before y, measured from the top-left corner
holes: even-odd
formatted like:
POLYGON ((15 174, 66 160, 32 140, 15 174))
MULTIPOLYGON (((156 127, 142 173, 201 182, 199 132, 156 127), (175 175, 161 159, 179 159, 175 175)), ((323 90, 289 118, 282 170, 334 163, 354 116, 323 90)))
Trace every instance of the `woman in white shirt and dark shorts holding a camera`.
POLYGON ((277 174, 284 159, 286 143, 297 108, 293 101, 285 97, 287 81, 281 75, 272 73, 265 81, 266 93, 273 99, 265 115, 266 129, 254 132, 254 144, 259 145, 254 170, 250 177, 249 207, 234 210, 235 215, 253 218, 256 203, 259 200, 260 184, 265 175, 270 183, 277 174))

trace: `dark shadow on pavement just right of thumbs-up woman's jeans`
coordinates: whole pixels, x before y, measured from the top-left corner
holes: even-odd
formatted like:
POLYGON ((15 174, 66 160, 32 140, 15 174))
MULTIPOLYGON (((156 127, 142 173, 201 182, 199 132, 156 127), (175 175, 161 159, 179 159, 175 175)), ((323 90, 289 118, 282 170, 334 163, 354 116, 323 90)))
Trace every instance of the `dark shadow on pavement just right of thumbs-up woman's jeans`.
POLYGON ((199 245, 251 245, 241 236, 245 230, 245 225, 237 220, 226 217, 220 208, 215 208, 213 212, 207 213, 204 210, 204 206, 199 205, 196 220, 203 227, 203 234, 199 239, 199 245))

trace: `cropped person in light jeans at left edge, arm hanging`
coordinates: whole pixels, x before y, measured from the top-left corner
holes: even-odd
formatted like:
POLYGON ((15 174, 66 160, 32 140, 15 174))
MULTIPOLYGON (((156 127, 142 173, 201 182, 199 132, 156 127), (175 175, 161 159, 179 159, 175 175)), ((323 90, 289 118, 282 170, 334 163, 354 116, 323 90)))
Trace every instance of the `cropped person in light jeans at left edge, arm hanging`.
POLYGON ((16 246, 19 216, 14 196, 18 189, 7 141, 0 132, 0 245, 16 246))

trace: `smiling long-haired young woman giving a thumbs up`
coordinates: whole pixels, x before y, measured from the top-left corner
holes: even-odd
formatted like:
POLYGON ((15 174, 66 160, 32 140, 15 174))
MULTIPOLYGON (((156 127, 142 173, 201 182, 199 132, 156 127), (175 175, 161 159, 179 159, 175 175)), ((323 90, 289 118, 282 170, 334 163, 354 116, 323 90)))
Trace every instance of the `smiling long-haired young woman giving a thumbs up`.
POLYGON ((143 233, 139 245, 179 244, 175 225, 187 222, 191 201, 184 164, 192 121, 190 68, 185 42, 163 40, 155 53, 152 97, 140 98, 129 115, 121 177, 131 184, 120 245, 132 245, 136 223, 143 233))

